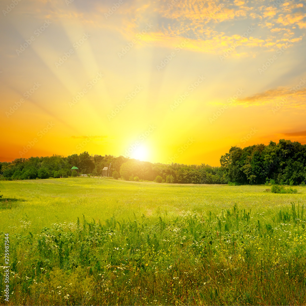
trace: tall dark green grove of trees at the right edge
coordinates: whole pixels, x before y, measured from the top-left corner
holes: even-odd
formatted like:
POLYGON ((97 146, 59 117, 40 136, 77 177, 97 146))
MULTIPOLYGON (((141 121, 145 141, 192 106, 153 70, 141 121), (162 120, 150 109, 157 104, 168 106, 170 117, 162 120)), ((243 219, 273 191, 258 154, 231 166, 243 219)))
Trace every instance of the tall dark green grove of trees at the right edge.
POLYGON ((233 184, 304 185, 306 145, 281 139, 267 146, 231 147, 220 164, 225 180, 233 184))

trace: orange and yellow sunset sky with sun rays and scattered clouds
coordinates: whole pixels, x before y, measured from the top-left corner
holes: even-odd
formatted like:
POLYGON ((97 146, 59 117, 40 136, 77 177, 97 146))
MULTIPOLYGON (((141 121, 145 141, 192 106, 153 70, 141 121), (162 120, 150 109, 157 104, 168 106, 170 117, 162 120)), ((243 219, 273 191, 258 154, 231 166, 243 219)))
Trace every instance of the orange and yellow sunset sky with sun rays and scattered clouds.
POLYGON ((2 0, 0 161, 218 166, 233 145, 305 144, 305 6, 2 0))

